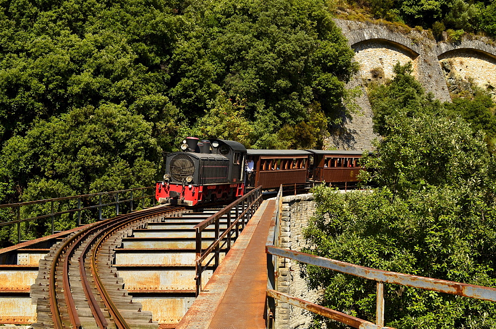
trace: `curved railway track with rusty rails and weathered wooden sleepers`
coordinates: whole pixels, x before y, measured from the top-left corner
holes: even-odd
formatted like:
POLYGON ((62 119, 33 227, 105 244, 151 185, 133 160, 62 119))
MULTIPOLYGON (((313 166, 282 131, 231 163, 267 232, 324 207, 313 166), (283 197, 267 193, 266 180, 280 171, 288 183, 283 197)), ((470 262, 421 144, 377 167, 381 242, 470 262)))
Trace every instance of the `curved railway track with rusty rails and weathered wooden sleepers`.
POLYGON ((157 328, 151 313, 142 311, 124 290, 123 279, 112 267, 114 248, 133 228, 182 210, 154 207, 97 222, 68 236, 40 262, 32 287, 38 298, 38 322, 33 327, 157 328))

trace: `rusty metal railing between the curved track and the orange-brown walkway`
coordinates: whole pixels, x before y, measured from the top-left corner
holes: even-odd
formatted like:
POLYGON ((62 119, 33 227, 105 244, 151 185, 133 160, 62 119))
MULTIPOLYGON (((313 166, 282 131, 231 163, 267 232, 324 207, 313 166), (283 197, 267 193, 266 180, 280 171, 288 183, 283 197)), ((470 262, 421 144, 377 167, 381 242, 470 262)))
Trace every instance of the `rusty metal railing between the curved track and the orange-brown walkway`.
POLYGON ((235 234, 236 238, 238 238, 240 226, 241 230, 245 228, 246 223, 251 218, 251 216, 253 216, 256 209, 258 209, 258 207, 260 206, 261 202, 262 187, 259 186, 194 227, 196 231, 196 296, 198 296, 201 291, 201 273, 207 268, 207 266, 210 265, 212 260, 214 260, 215 268, 219 266, 221 248, 227 245, 227 252, 229 252, 229 250, 231 249, 233 233, 235 234), (226 216, 227 218, 227 228, 224 232, 221 233, 220 219, 224 216, 226 216), (201 233, 212 223, 215 225, 215 240, 210 244, 210 246, 203 250, 201 247, 201 233), (221 246, 221 242, 224 239, 226 239, 226 241, 221 246), (208 255, 210 255, 210 253, 212 252, 214 253, 213 257, 211 257, 208 262, 206 262, 206 264, 203 264, 203 261, 206 260, 208 258, 208 255))

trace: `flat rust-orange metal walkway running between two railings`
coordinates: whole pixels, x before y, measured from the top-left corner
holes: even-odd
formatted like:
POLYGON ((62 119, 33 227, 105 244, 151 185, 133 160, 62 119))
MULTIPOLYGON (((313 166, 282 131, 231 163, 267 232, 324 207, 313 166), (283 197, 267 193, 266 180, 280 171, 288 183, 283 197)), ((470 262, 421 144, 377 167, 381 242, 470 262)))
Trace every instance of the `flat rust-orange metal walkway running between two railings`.
POLYGON ((275 200, 264 201, 200 293, 180 328, 265 328, 265 242, 275 200))

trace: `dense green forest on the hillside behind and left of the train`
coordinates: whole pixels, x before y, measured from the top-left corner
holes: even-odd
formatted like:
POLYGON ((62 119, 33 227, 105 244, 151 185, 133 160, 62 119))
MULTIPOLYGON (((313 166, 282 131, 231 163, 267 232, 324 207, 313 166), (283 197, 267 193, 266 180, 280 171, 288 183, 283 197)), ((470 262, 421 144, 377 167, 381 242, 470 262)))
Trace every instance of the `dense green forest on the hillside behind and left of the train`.
POLYGON ((0 203, 149 185, 186 134, 314 147, 356 69, 325 0, 0 7, 0 203))

